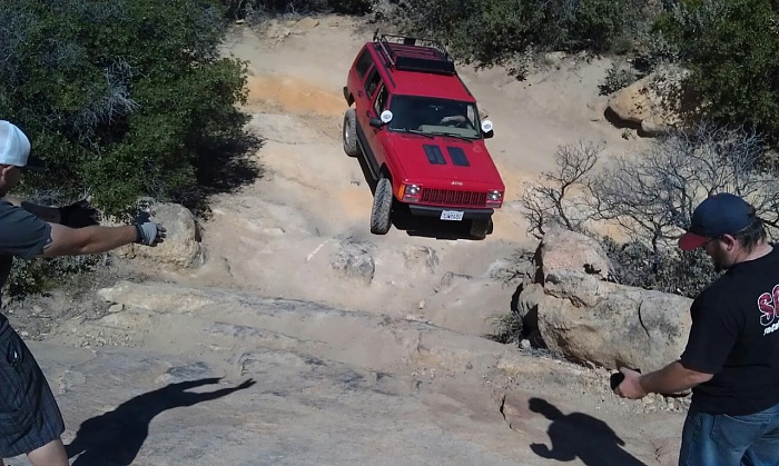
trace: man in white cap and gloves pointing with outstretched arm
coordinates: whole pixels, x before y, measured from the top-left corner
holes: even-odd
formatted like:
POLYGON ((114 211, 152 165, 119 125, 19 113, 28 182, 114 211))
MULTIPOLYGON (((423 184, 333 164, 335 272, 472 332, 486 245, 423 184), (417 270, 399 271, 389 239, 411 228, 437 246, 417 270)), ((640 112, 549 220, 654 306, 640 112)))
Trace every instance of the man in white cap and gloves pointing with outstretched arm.
MULTIPOLYGON (((131 242, 156 246, 165 238, 165 228, 155 222, 101 227, 85 221, 89 209, 80 205, 56 209, 7 197, 21 180, 22 169, 41 167, 30 157, 30 141, 21 129, 0 120, 0 287, 13 257, 100 254, 131 242)), ((68 466, 57 401, 34 357, 2 314, 0 387, 0 466, 1 458, 21 454, 34 466, 68 466)))

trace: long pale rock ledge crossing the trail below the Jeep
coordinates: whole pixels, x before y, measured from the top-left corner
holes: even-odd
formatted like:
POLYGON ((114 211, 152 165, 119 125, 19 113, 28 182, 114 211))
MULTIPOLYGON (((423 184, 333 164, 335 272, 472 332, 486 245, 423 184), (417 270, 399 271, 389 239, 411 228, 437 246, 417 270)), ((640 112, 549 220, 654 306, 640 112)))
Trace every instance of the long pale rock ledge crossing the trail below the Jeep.
MULTIPOLYGON (((230 356, 269 348, 385 373, 435 370, 442 376, 521 380, 561 373, 562 378, 603 384, 580 366, 524 355, 512 346, 415 320, 175 284, 122 281, 99 293, 125 310, 97 321, 66 325, 66 329, 170 354, 230 356), (561 371, 561 365, 566 370, 561 371)), ((70 341, 68 331, 59 337, 70 341)))

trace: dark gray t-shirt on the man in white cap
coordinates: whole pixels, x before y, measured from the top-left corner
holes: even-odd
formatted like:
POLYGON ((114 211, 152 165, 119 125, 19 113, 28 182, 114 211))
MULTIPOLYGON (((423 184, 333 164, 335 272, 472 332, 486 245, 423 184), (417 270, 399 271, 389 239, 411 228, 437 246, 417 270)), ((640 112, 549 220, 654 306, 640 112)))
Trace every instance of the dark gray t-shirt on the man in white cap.
MULTIPOLYGON (((0 289, 11 272, 13 257, 29 260, 51 242, 51 225, 21 207, 0 199, 0 289)), ((0 304, 2 303, 0 295, 0 304)), ((0 337, 9 329, 8 319, 0 314, 0 337)))

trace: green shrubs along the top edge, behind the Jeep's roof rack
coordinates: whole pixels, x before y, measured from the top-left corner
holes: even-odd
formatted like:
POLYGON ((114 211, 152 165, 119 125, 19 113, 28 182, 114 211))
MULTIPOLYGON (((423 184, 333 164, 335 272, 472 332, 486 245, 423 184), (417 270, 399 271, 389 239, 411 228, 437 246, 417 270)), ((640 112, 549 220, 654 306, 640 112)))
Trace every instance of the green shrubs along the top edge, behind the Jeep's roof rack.
POLYGON ((628 51, 654 10, 638 0, 405 0, 406 29, 432 33, 469 62, 500 63, 525 51, 628 51))

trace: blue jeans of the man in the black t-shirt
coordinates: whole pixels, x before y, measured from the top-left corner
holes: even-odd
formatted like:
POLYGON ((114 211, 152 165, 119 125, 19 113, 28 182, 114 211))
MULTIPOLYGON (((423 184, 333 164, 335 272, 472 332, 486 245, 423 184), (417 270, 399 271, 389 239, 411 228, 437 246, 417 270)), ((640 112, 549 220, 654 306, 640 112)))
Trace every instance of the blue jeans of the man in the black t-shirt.
POLYGON ((745 416, 687 414, 679 466, 779 466, 779 405, 745 416))

